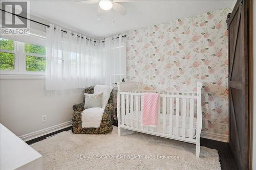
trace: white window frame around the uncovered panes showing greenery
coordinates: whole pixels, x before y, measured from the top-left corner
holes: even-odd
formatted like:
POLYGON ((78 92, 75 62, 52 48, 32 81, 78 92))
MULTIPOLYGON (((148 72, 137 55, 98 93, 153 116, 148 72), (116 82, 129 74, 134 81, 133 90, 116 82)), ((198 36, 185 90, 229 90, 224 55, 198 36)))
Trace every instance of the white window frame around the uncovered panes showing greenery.
MULTIPOLYGON (((45 75, 46 75, 45 71, 28 71, 27 70, 26 56, 46 58, 46 55, 25 53, 25 43, 45 46, 45 45, 42 45, 43 43, 35 44, 33 42, 27 42, 27 41, 20 42, 20 41, 12 39, 11 37, 9 38, 9 37, 1 36, 1 38, 13 40, 13 51, 0 49, 0 52, 14 54, 14 69, 13 70, 1 69, 0 70, 0 79, 45 79, 45 75)), ((31 36, 29 37, 29 39, 31 39, 31 36)), ((25 40, 26 40, 26 38, 25 38, 25 40)), ((38 38, 37 38, 37 40, 38 40, 38 38)))

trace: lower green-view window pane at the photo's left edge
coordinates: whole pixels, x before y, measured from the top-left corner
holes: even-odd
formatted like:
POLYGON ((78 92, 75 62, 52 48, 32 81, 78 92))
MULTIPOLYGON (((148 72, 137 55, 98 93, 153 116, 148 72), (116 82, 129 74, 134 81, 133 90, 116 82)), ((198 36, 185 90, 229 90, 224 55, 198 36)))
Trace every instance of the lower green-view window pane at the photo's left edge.
POLYGON ((0 69, 14 69, 14 54, 0 52, 0 69))

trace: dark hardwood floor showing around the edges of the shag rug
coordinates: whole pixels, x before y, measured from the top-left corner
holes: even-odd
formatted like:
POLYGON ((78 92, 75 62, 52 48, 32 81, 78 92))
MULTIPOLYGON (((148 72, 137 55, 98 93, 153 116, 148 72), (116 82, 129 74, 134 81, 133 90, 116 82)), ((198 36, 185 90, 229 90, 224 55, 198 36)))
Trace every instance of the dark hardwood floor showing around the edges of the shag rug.
MULTIPOLYGON (((49 136, 55 135, 57 133, 63 132, 63 131, 69 131, 71 130, 71 127, 32 139, 27 141, 26 143, 28 144, 32 144, 35 142, 38 142, 40 140, 44 140, 49 136)), ((216 141, 216 140, 210 140, 210 139, 205 139, 205 138, 201 138, 200 139, 200 144, 203 147, 207 147, 210 149, 216 149, 219 153, 220 156, 220 162, 221 162, 221 169, 222 170, 236 170, 238 169, 237 167, 237 163, 234 161, 234 158, 231 154, 231 150, 229 148, 228 143, 225 142, 220 142, 220 141, 216 141)), ((203 169, 202 169, 203 170, 203 169)))

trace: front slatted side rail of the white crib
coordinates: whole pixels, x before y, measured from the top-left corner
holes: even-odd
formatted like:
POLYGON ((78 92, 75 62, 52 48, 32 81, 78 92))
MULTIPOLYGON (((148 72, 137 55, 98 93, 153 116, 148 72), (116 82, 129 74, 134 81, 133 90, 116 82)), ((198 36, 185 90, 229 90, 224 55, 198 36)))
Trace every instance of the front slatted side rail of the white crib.
POLYGON ((196 94, 160 94, 158 112, 158 128, 142 127, 143 93, 120 92, 121 95, 121 125, 138 128, 147 132, 157 132, 164 136, 182 136, 193 139, 193 125, 196 118, 196 94), (189 136, 186 136, 186 120, 189 119, 189 136), (174 121, 173 121, 174 120, 174 121), (175 127, 172 126, 175 124, 175 127), (182 125, 180 125, 182 124, 182 125), (166 129, 169 128, 169 129, 166 129), (182 127, 182 130, 179 128, 182 127), (175 129, 173 129, 175 128, 175 129), (182 133, 181 133, 182 131, 182 133), (172 132, 172 133, 171 133, 172 132))

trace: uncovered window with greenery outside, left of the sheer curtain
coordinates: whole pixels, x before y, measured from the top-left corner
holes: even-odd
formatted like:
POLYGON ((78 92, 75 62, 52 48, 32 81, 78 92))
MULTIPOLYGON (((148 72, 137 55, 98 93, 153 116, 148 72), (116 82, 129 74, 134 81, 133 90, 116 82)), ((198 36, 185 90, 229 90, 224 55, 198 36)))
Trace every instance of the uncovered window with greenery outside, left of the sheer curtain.
POLYGON ((46 48, 32 43, 0 39, 0 72, 3 75, 45 75, 46 48))

